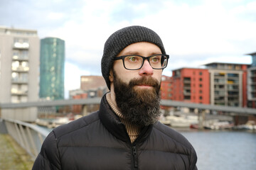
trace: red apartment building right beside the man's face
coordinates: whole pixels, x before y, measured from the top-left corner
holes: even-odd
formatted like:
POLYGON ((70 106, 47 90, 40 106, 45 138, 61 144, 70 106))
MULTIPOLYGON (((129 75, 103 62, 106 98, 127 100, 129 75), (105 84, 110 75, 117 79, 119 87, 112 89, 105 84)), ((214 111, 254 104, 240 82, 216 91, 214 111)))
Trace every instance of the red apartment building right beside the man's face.
POLYGON ((208 69, 181 68, 173 70, 171 99, 191 103, 210 103, 208 69))

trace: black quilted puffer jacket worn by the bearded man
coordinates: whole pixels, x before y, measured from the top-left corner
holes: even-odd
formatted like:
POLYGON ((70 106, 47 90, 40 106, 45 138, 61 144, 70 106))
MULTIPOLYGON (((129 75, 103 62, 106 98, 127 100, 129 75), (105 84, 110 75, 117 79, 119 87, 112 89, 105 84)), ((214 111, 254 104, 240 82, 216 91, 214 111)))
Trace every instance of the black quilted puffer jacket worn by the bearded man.
POLYGON ((100 111, 55 128, 33 169, 190 169, 196 152, 185 137, 161 123, 144 128, 134 143, 107 103, 100 111))

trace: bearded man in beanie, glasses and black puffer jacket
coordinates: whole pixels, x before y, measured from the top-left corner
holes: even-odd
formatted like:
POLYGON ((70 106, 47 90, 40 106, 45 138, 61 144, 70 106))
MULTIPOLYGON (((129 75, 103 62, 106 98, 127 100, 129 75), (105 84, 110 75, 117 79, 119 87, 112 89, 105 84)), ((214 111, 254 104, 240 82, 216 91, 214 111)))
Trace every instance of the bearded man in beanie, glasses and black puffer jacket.
POLYGON ((33 169, 197 169, 188 140, 158 121, 168 60, 149 28, 129 26, 110 35, 102 56, 110 92, 100 110, 50 132, 33 169))

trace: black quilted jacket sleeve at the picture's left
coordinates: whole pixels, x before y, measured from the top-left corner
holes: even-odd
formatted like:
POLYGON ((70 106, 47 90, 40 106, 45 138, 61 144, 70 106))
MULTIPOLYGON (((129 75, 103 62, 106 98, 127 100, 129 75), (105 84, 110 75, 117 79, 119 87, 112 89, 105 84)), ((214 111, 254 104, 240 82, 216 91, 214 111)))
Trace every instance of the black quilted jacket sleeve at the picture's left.
POLYGON ((54 132, 50 132, 48 137, 46 137, 46 140, 43 142, 41 152, 38 154, 38 157, 36 157, 32 169, 61 169, 57 139, 54 132))

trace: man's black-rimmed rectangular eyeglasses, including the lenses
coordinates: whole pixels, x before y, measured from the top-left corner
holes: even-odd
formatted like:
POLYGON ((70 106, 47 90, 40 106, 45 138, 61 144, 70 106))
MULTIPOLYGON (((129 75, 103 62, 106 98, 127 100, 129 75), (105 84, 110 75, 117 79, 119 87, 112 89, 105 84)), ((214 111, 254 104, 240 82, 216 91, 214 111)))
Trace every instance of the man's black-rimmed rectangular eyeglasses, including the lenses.
POLYGON ((141 55, 122 55, 114 58, 114 60, 121 59, 124 68, 129 70, 141 69, 145 60, 148 60, 152 69, 164 69, 167 66, 169 55, 151 55, 149 57, 143 57, 141 55))

